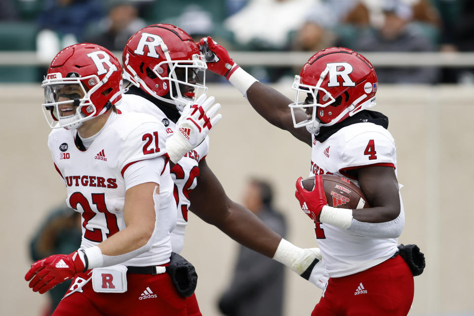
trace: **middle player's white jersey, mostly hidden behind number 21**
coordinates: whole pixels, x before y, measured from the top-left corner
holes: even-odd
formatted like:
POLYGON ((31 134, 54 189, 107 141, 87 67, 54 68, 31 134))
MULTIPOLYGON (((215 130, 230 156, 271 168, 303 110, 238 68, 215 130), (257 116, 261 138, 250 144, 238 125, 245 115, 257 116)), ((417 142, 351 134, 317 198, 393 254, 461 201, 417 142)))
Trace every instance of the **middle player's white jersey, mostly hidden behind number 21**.
MULTIPOLYGON (((173 134, 176 123, 167 118, 163 111, 152 102, 134 94, 123 94, 122 100, 126 101, 121 102, 118 110, 124 113, 141 112, 151 114, 164 124, 168 137, 173 134)), ((189 193, 197 185, 197 177, 199 176, 198 163, 208 152, 209 136, 206 136, 202 143, 181 158, 170 171, 174 181, 174 197, 178 207, 178 222, 174 231, 171 232, 171 244, 173 251, 176 253, 180 253, 184 247, 184 235, 188 225, 188 210, 191 205, 189 193)))

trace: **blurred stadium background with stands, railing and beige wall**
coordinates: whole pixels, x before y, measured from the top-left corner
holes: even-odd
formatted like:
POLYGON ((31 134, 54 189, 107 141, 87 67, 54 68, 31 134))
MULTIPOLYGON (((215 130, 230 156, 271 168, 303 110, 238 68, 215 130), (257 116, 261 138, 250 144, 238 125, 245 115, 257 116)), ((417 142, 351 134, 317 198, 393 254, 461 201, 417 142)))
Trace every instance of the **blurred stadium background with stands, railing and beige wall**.
MULTIPOLYGON (((417 243, 427 268, 415 278, 411 316, 474 315, 474 1, 472 0, 1 0, 0 1, 0 315, 42 315, 46 297, 23 276, 28 242, 65 190, 51 163, 40 81, 63 47, 102 44, 118 56, 128 37, 172 23, 196 40, 211 35, 244 69, 293 98, 291 82, 318 49, 362 52, 379 75, 378 106, 390 118, 406 212, 401 243, 417 243), (445 197, 450 197, 449 200, 445 197)), ((258 117, 239 93, 208 74, 208 94, 223 105, 211 137, 210 167, 240 201, 251 176, 269 179, 285 212, 290 241, 316 245, 293 197, 308 174, 309 148, 258 117), (242 127, 244 126, 244 127, 242 127)), ((203 315, 220 315, 237 244, 196 216, 183 255, 199 274, 203 315)), ((310 315, 321 291, 286 273, 285 315, 310 315)))

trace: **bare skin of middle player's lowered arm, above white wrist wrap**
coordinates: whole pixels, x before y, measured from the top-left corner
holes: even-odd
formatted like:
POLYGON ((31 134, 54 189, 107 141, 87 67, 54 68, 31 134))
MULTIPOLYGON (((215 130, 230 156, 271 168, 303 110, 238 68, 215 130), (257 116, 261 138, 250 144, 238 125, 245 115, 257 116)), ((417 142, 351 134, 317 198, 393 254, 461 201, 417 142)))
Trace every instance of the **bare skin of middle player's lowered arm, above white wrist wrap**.
POLYGON ((219 228, 238 243, 273 258, 281 236, 268 228, 255 214, 227 197, 207 162, 199 162, 199 178, 190 193, 191 211, 219 228))

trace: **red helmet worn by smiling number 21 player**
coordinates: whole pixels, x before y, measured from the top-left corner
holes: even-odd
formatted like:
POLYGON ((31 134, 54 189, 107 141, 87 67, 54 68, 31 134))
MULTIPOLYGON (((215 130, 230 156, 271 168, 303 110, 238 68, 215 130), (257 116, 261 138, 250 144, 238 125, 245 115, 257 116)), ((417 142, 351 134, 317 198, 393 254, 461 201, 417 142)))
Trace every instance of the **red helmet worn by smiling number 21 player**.
POLYGON ((107 48, 80 43, 54 57, 41 87, 45 97, 42 109, 49 126, 78 128, 121 100, 122 67, 107 48), (68 104, 70 108, 64 106, 68 104))

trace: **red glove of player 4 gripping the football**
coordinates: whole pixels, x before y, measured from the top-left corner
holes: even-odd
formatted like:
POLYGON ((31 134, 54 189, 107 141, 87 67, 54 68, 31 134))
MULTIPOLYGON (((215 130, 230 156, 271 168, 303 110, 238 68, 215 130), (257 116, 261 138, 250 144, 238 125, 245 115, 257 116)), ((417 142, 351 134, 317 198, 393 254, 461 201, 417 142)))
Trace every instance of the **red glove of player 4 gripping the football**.
POLYGON ((301 185, 303 177, 296 180, 295 197, 300 202, 301 209, 315 222, 319 222, 319 215, 322 207, 327 204, 326 194, 322 187, 322 178, 320 175, 315 177, 315 187, 313 191, 307 191, 301 185))

